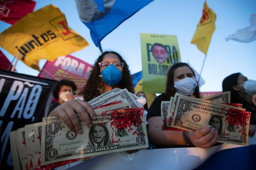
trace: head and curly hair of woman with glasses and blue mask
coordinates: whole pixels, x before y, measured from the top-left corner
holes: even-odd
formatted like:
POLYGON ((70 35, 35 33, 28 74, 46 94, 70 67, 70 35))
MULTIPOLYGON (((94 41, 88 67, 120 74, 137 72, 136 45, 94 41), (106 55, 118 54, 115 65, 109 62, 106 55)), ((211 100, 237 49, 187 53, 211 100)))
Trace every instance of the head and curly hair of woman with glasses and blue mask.
POLYGON ((88 102, 114 88, 134 93, 132 76, 124 59, 116 52, 106 51, 94 63, 90 77, 80 92, 88 102))

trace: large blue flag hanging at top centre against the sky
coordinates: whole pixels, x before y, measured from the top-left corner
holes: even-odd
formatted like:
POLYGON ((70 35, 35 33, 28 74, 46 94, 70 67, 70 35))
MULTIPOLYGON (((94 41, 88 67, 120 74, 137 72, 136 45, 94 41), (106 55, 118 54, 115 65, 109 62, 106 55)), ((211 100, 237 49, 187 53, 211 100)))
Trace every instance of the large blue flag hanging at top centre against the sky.
POLYGON ((153 0, 76 0, 80 20, 90 29, 94 44, 153 0))

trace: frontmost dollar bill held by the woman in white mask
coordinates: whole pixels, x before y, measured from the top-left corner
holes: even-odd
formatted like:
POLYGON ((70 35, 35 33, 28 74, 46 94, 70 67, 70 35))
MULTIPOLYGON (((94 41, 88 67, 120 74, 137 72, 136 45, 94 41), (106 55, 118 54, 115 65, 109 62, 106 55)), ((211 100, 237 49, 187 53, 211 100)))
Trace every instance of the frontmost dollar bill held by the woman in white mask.
POLYGON ((176 101, 171 127, 196 131, 211 125, 219 143, 248 145, 250 112, 181 94, 176 94, 176 101))

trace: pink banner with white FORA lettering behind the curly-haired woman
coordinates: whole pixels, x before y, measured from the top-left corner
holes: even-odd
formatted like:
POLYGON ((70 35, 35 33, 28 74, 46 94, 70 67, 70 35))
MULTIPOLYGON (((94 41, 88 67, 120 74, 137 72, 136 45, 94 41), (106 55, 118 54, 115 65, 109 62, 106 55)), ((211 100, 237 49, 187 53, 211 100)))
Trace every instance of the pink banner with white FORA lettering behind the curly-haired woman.
POLYGON ((47 61, 42 69, 42 73, 39 73, 38 77, 50 78, 52 80, 72 80, 80 90, 86 84, 91 70, 91 64, 72 55, 66 55, 58 57, 53 62, 47 61))

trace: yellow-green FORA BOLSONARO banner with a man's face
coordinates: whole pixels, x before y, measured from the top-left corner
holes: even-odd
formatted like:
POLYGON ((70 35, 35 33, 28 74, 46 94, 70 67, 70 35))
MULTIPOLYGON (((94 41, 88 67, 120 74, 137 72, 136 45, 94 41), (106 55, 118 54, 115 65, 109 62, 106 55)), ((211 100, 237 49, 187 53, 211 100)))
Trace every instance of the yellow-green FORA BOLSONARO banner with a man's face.
POLYGON ((143 92, 162 93, 169 68, 181 62, 177 36, 141 33, 140 42, 143 92))

